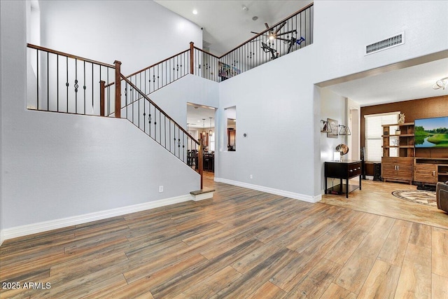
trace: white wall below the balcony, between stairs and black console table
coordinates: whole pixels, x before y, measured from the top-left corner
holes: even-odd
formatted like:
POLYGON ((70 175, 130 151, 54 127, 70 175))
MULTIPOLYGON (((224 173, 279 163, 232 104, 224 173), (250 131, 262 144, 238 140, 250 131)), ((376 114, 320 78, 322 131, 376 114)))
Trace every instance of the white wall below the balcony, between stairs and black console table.
MULTIPOLYGON (((225 151, 227 141, 221 130, 218 148, 222 158, 215 172, 219 179, 316 200, 310 183, 315 172, 314 86, 306 71, 313 64, 304 59, 313 48, 308 46, 220 83, 221 113, 230 106, 237 108, 237 151, 225 151)), ((225 118, 220 121, 225 128, 223 122, 225 118)))

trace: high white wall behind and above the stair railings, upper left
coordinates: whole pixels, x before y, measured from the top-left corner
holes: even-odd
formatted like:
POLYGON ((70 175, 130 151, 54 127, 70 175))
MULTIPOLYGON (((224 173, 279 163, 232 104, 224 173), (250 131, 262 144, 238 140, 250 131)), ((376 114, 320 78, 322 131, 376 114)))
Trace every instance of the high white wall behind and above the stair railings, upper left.
POLYGON ((41 45, 113 64, 128 75, 190 48, 202 30, 154 1, 39 1, 41 45))

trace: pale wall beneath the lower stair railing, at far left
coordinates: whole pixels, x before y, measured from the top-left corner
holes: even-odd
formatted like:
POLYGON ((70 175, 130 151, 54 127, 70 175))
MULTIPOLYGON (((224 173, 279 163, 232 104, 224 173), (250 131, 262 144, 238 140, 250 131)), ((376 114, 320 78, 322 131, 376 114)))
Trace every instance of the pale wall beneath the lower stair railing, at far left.
POLYGON ((196 172, 127 120, 27 111, 26 7, 0 2, 2 233, 200 188, 196 172))

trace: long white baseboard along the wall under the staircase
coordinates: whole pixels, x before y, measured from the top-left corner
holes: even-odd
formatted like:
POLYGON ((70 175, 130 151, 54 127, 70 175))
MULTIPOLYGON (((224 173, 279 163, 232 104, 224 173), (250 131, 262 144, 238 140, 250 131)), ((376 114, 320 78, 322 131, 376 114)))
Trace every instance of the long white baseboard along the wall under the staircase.
POLYGON ((181 195, 177 197, 166 198, 163 200, 156 200, 154 202, 145 202, 143 204, 134 204, 132 206, 120 207, 116 209, 109 209, 104 211, 97 211, 94 213, 83 214, 78 216, 72 216, 67 218, 60 218, 50 221, 44 221, 40 223, 32 223, 27 225, 17 226, 15 228, 6 228, 0 232, 0 245, 6 239, 13 239, 15 237, 22 237, 25 235, 36 234, 38 232, 45 232, 48 230, 56 230, 58 228, 66 228, 71 225, 78 225, 81 223, 87 223, 91 221, 102 220, 115 216, 121 216, 125 214, 134 213, 137 211, 145 211, 147 209, 154 209, 158 207, 164 207, 169 204, 177 204, 179 202, 187 202, 193 200, 193 197, 188 195, 181 195))

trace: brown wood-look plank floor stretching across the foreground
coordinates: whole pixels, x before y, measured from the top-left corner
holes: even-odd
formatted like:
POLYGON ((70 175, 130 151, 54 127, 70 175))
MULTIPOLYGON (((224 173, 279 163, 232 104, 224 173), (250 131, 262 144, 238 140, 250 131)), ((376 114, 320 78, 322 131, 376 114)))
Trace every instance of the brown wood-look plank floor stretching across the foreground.
POLYGON ((0 298, 448 298, 448 214, 388 196, 412 186, 309 204, 205 185, 212 200, 6 240, 0 281, 51 287, 0 298))

